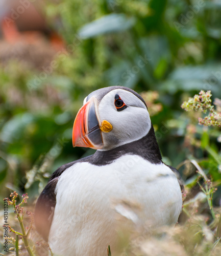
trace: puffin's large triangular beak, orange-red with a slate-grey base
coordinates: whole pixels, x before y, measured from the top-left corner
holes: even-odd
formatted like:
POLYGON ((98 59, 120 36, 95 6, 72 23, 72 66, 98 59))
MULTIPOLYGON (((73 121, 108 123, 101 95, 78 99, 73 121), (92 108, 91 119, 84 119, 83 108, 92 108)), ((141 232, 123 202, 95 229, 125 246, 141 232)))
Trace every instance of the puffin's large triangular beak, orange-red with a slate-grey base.
POLYGON ((100 127, 102 126, 97 111, 97 100, 92 97, 79 110, 73 123, 73 147, 91 147, 99 150, 103 147, 100 127))

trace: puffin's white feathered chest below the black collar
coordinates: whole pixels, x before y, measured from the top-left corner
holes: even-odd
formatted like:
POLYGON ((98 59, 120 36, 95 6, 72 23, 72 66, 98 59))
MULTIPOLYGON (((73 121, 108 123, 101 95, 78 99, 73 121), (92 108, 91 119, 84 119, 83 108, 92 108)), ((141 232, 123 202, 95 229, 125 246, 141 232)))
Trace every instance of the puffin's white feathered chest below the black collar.
POLYGON ((105 255, 117 212, 149 227, 176 223, 182 207, 171 169, 131 155, 105 166, 77 163, 61 175, 56 192, 49 243, 67 256, 105 255))

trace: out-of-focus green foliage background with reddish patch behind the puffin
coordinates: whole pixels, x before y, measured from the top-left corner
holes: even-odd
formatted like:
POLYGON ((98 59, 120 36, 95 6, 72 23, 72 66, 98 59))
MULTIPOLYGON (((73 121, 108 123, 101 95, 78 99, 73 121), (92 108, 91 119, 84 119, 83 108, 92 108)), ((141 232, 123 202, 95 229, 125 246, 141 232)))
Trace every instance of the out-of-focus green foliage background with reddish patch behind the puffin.
POLYGON ((220 205, 220 128, 181 109, 200 90, 221 98, 220 1, 1 0, 0 24, 2 199, 33 204, 56 168, 93 154, 72 147, 73 121, 90 92, 120 85, 148 104, 165 163, 191 187, 182 163, 197 160, 220 205))

